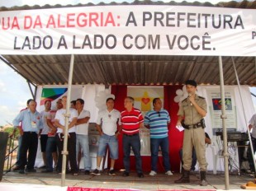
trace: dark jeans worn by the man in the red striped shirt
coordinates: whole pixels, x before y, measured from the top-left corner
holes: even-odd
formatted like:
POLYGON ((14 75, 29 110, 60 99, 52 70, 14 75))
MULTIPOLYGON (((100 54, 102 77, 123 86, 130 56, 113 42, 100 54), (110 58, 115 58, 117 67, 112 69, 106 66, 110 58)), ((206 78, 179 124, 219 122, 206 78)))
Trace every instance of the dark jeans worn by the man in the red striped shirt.
POLYGON ((136 171, 142 173, 142 162, 140 156, 140 135, 139 133, 129 137, 123 135, 124 165, 126 172, 130 172, 130 147, 135 154, 136 171))

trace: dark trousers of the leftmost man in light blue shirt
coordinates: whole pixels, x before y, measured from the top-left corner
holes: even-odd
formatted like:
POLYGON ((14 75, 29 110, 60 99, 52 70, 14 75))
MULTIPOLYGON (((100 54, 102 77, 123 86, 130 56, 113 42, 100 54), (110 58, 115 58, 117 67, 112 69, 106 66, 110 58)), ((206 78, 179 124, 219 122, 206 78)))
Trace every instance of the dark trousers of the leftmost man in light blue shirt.
POLYGON ((36 161, 36 151, 38 145, 38 137, 36 132, 24 132, 21 140, 21 170, 26 169, 32 170, 34 169, 35 161, 36 161), (28 159, 26 159, 26 153, 28 151, 28 159), (27 161, 27 163, 26 163, 27 161))

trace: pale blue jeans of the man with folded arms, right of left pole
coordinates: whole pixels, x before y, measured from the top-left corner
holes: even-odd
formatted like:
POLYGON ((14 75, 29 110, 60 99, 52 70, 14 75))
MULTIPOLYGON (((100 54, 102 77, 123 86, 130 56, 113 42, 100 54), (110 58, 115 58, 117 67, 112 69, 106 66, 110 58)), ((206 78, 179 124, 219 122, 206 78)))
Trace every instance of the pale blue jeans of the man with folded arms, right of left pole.
POLYGON ((77 159, 78 159, 79 146, 83 149, 84 170, 91 170, 92 165, 91 165, 91 157, 90 157, 90 151, 89 151, 88 135, 77 134, 77 142, 76 142, 77 159))

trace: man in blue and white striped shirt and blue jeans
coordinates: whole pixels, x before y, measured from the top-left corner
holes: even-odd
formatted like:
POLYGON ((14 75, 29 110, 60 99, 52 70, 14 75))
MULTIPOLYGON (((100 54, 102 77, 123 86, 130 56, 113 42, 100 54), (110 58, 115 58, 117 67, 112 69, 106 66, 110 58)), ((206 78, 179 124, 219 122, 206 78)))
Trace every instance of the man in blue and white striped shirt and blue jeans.
POLYGON ((164 170, 166 175, 173 175, 169 160, 169 142, 168 142, 168 124, 171 119, 168 111, 162 109, 160 98, 154 98, 154 109, 145 114, 145 127, 150 132, 150 150, 151 150, 151 172, 149 175, 157 174, 157 162, 159 157, 159 147, 161 147, 164 170))

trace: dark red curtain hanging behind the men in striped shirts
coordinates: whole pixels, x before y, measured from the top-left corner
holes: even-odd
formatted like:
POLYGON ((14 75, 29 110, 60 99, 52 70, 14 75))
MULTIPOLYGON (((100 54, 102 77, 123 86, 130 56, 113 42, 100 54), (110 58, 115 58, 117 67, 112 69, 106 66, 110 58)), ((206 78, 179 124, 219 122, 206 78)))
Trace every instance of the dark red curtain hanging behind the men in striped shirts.
MULTIPOLYGON (((178 129, 175 128, 178 119, 178 103, 175 103, 173 99, 176 96, 176 91, 178 89, 182 89, 182 86, 164 86, 164 109, 168 110, 168 113, 171 117, 171 124, 169 125, 168 134, 170 142, 169 150, 171 168, 174 171, 179 170, 180 159, 178 156, 178 151, 183 145, 183 132, 179 132, 178 129)), ((111 94, 115 95, 116 97, 115 109, 118 109, 119 111, 124 110, 124 100, 127 96, 127 86, 111 86, 111 94)), ((150 156, 142 156, 142 167, 145 172, 149 172, 151 170, 150 156)), ((115 168, 118 170, 124 169, 122 135, 119 136, 119 159, 116 160, 115 168)), ((131 170, 135 170, 134 156, 130 156, 130 168, 131 170)), ((164 165, 161 156, 159 156, 158 170, 159 172, 164 171, 164 165)))

